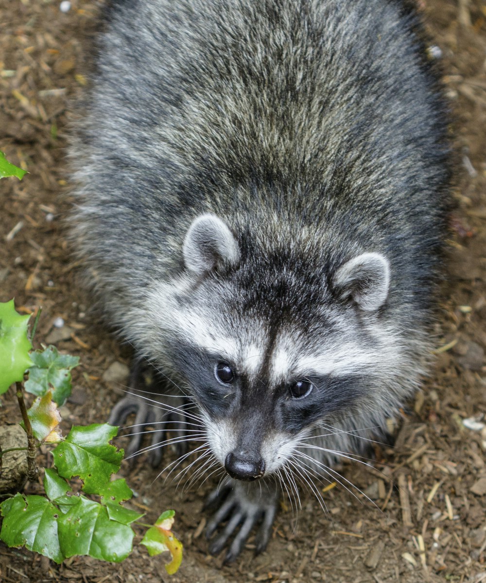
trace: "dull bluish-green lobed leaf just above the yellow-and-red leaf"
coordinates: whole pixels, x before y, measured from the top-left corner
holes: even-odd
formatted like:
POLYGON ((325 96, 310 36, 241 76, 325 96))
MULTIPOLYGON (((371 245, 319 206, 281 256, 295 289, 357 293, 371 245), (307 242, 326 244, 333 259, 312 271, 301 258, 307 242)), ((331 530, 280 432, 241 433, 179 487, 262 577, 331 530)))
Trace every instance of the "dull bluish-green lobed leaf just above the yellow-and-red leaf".
POLYGON ((30 355, 34 366, 29 368, 29 380, 24 387, 27 392, 43 396, 52 387, 52 400, 64 405, 71 395, 71 369, 79 364, 78 356, 59 354, 55 346, 36 350, 30 355))

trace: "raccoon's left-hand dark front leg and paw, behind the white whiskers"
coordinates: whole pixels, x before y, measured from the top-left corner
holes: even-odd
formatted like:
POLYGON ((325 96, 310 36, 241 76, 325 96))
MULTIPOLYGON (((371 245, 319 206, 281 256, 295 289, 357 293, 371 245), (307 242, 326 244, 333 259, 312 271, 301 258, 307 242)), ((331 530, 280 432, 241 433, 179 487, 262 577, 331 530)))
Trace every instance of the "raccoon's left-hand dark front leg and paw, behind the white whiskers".
MULTIPOLYGON (((170 431, 174 437, 187 435, 187 423, 184 415, 186 400, 183 395, 177 394, 167 386, 167 382, 150 364, 135 359, 129 379, 130 392, 111 410, 108 423, 123 426, 126 419, 135 413, 133 427, 135 431, 126 448, 126 458, 136 455, 141 449, 144 429, 153 426, 149 451, 149 462, 153 468, 159 465, 162 459, 161 445, 165 434, 170 431)), ((175 445, 177 455, 184 455, 187 449, 184 439, 178 440, 175 445)))

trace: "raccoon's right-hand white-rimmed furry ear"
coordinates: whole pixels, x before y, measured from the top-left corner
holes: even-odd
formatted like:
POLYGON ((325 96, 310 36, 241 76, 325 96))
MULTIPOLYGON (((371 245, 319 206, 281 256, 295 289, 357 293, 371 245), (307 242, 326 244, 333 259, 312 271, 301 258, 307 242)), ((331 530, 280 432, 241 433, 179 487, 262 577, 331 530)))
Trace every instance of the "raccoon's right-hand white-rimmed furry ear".
POLYGON ((374 311, 385 303, 390 286, 388 259, 379 253, 363 253, 337 270, 334 286, 351 296, 361 310, 374 311))

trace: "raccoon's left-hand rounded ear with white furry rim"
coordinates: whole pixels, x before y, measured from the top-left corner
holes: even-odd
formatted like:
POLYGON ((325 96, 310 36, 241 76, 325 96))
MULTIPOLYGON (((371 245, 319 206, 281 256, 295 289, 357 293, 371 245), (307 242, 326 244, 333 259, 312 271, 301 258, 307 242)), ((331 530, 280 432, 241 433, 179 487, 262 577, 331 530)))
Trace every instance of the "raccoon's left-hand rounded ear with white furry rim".
POLYGON ((182 247, 188 269, 202 275, 219 264, 234 265, 240 249, 226 223, 216 215, 200 215, 193 220, 182 247))

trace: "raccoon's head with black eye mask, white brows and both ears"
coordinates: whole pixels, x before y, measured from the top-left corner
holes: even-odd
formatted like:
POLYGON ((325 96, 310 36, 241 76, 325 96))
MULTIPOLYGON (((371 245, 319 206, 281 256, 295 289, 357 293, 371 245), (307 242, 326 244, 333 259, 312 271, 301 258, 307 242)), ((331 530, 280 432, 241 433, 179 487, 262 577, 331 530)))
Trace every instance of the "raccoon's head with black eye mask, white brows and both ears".
POLYGON ((388 260, 360 252, 319 267, 319 240, 301 243, 270 257, 219 217, 199 216, 184 275, 150 298, 160 359, 190 387, 213 454, 236 479, 278 471, 323 419, 379 406, 399 368, 382 314, 388 260))

